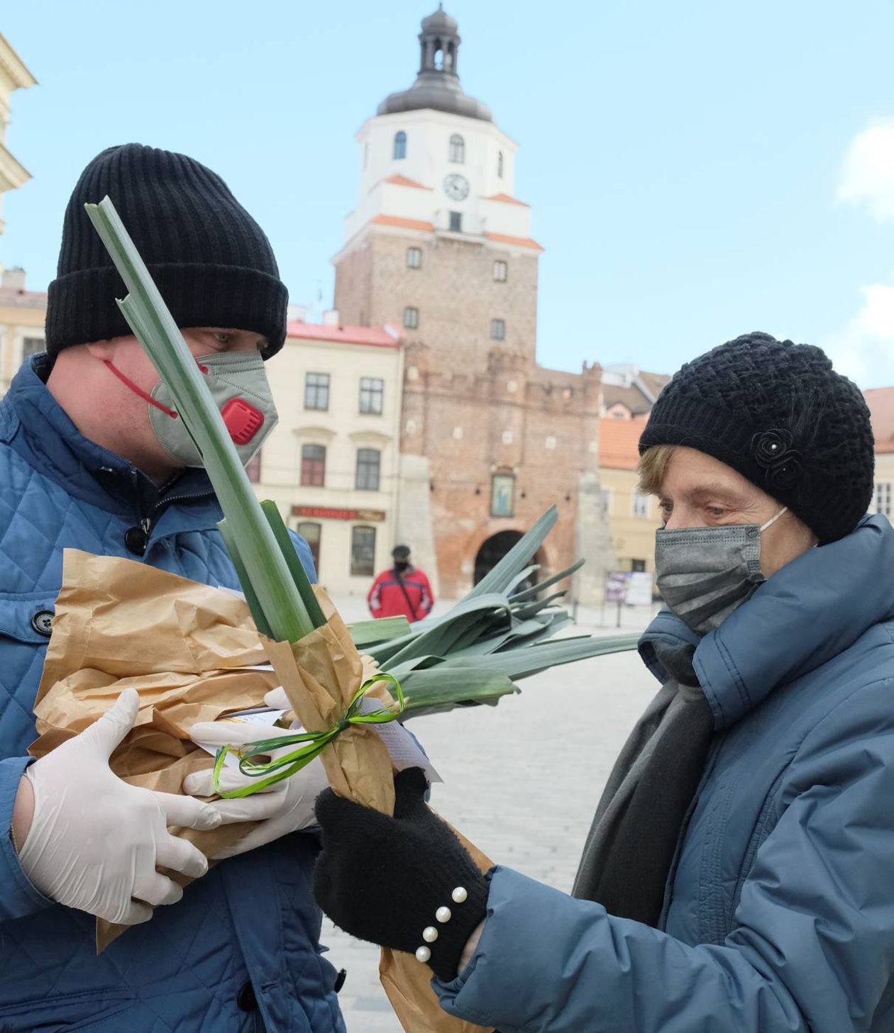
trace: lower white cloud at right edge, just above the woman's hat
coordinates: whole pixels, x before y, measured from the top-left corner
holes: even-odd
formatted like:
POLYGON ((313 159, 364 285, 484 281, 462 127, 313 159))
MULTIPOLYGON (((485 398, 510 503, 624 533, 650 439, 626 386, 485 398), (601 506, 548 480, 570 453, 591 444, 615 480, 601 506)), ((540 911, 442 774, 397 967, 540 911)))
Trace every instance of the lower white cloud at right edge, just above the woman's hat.
POLYGON ((823 348, 839 373, 861 387, 894 385, 894 278, 861 287, 863 304, 823 348))

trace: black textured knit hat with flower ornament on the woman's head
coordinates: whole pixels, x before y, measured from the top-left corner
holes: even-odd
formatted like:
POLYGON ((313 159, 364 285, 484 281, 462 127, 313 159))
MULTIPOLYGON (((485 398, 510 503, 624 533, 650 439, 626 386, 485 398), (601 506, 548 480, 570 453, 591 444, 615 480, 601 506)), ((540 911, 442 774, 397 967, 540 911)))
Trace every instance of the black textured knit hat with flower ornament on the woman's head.
POLYGON ((816 534, 850 534, 872 498, 874 452, 860 388, 820 348, 746 334, 686 363, 640 438, 688 445, 738 470, 816 534))

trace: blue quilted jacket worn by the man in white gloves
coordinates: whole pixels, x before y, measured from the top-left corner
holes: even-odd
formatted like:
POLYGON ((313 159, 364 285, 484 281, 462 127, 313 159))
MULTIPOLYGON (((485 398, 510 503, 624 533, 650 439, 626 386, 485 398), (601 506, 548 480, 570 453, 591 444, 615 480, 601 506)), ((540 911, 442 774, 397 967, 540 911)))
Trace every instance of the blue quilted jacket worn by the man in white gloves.
POLYGON ((9 822, 62 550, 136 559, 125 535, 149 516, 144 562, 238 587, 205 473, 159 496, 79 434, 44 386, 44 363, 24 367, 0 402, 0 1031, 341 1033, 310 890, 313 834, 222 862, 99 957, 94 919, 43 898, 19 866, 9 822))

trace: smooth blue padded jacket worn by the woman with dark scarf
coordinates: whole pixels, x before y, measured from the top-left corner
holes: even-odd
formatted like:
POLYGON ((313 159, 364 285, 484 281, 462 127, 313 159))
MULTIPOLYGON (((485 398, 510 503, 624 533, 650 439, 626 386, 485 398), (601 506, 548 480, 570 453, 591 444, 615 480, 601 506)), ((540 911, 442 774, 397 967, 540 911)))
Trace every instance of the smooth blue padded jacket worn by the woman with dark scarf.
MULTIPOLYGON (((667 613, 648 629, 664 678, 657 639, 693 638, 667 613)), ((867 518, 783 567, 695 665, 716 734, 660 928, 497 869, 448 1011, 502 1033, 894 1031, 894 530, 867 518)))

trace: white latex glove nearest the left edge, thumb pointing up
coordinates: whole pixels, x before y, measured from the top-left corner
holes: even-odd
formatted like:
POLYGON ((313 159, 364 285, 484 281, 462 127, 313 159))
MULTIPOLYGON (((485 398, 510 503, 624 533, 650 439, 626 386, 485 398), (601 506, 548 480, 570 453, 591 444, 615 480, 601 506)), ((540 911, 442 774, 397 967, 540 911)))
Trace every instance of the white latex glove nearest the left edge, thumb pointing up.
POLYGON ((128 785, 113 774, 109 757, 133 727, 138 707, 136 691, 126 689, 98 721, 26 769, 34 815, 19 852, 44 896, 127 926, 151 918, 149 905, 183 896, 156 866, 191 878, 208 871, 202 851, 167 826, 220 824, 210 804, 128 785))

